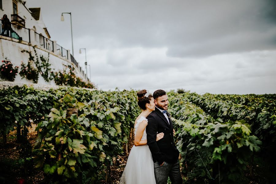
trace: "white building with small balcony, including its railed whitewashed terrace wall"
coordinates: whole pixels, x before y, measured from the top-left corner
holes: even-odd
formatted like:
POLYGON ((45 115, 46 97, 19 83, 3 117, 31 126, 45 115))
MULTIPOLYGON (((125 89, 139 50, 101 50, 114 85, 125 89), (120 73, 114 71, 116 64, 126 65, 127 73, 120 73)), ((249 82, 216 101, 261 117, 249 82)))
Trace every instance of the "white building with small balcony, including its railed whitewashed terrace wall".
MULTIPOLYGON (((22 0, 0 0, 0 16, 7 15, 11 25, 10 34, 7 32, 0 35, 0 60, 5 58, 19 66, 21 61, 28 61, 29 56, 22 53, 22 50, 38 53, 38 56, 48 56, 52 68, 63 70, 63 65, 72 65, 77 70, 76 75, 84 81, 88 78, 79 63, 76 62, 74 57, 70 54, 70 50, 62 48, 56 44, 55 40, 50 40, 50 34, 43 22, 40 8, 27 8, 25 1, 22 0)), ((2 33, 2 21, 0 20, 0 33, 2 33)), ((34 55, 34 53, 33 53, 34 55)), ((17 75, 15 82, 28 83, 27 79, 21 79, 17 75)), ((40 84, 49 84, 40 76, 38 80, 40 84)), ((54 85, 52 81, 50 85, 54 85)))

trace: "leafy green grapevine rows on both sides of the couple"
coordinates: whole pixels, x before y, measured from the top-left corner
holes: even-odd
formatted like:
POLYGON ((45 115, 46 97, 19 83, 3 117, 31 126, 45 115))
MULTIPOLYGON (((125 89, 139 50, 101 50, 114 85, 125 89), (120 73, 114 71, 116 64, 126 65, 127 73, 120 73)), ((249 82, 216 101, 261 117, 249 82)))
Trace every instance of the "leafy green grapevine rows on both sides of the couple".
MULTIPOLYGON (((2 183, 118 183, 110 168, 129 152, 136 91, 15 86, 0 96, 2 183), (41 181, 28 180, 35 172, 41 181)), ((183 183, 275 182, 276 94, 168 96, 183 183)))

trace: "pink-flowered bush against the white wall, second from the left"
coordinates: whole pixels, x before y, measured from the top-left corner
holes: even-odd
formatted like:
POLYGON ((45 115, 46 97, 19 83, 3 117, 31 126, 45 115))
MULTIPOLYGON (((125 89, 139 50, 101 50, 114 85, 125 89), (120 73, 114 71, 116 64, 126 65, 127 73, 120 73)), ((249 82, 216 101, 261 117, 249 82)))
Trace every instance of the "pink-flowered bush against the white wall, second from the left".
POLYGON ((31 62, 29 61, 27 65, 21 62, 21 71, 19 72, 19 75, 22 77, 22 79, 25 77, 28 80, 32 80, 33 83, 37 83, 39 71, 36 68, 33 68, 31 66, 31 62))

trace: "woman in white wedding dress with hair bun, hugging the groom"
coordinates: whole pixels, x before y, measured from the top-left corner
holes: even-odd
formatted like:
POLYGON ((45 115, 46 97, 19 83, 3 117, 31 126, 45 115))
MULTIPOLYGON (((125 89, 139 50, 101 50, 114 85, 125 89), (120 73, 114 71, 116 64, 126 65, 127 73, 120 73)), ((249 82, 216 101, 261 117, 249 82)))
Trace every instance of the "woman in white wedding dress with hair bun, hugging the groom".
MULTIPOLYGON (((138 105, 143 110, 134 124, 134 146, 128 155, 128 161, 122 174, 120 184, 156 184, 151 151, 147 145, 147 116, 155 110, 153 96, 147 90, 137 93, 138 105)), ((164 133, 156 136, 156 141, 162 139, 164 133)))

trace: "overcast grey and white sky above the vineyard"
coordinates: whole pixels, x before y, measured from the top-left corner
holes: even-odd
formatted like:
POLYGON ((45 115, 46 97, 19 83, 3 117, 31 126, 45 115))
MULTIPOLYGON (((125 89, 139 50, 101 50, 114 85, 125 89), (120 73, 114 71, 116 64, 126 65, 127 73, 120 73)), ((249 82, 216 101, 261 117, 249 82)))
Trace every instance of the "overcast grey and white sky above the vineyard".
POLYGON ((27 0, 99 89, 276 93, 276 1, 27 0), (89 76, 89 67, 88 67, 89 76))

